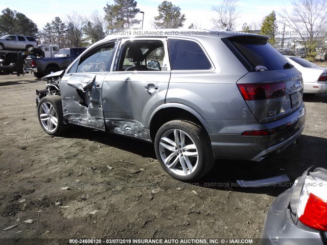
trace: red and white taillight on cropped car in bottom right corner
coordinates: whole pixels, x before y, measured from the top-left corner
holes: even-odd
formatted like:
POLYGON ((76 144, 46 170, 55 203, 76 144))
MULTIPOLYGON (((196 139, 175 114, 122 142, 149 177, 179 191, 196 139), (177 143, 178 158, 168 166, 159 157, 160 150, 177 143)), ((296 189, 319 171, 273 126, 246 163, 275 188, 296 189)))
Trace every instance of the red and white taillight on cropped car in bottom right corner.
POLYGON ((306 176, 299 198, 297 215, 306 226, 327 231, 327 181, 306 176))

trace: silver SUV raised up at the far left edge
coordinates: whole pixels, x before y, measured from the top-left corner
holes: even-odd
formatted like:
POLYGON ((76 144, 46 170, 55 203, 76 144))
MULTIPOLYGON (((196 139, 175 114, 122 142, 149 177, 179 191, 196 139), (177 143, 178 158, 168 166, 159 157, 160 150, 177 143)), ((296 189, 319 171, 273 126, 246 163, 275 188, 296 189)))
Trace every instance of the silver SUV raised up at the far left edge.
POLYGON ((3 50, 28 50, 37 47, 35 37, 20 35, 5 35, 0 38, 0 51, 3 50))

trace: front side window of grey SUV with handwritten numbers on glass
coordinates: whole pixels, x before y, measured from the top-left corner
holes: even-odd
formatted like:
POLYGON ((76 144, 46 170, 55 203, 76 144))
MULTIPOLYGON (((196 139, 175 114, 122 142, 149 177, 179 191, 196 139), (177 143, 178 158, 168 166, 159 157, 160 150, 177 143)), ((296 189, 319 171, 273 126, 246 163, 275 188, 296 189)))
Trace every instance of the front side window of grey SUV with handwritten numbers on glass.
POLYGON ((86 57, 82 58, 79 64, 75 62, 68 73, 109 71, 114 53, 114 45, 115 43, 106 44, 88 53, 86 57), (77 70, 74 71, 76 64, 78 64, 77 70))

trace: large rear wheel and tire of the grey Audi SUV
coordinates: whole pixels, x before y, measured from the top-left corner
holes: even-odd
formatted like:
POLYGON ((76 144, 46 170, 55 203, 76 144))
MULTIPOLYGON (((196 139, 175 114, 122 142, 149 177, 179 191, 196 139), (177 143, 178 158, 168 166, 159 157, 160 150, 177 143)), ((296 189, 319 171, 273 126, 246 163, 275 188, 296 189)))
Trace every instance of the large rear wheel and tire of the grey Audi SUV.
POLYGON ((207 132, 190 121, 173 120, 164 124, 155 136, 154 148, 162 168, 180 181, 190 182, 200 179, 212 169, 215 163, 207 132), (179 135, 177 136, 179 145, 175 143, 176 132, 179 135), (164 145, 170 149, 168 150, 164 145), (192 148, 193 145, 195 148, 192 148), (173 157, 168 157, 170 155, 173 157), (164 163, 164 159, 169 159, 167 164, 164 163), (180 161, 183 161, 183 164, 180 161), (169 168, 168 165, 174 166, 169 168))

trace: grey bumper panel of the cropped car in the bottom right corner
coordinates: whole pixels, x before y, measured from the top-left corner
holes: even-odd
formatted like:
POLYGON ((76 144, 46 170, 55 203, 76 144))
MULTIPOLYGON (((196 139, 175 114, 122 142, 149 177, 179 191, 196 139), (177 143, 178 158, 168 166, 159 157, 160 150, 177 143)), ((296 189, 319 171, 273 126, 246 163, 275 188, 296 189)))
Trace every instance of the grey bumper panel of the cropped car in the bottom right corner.
POLYGON ((261 245, 324 245, 319 231, 296 226, 288 209, 293 188, 278 195, 270 206, 261 234, 261 245))

